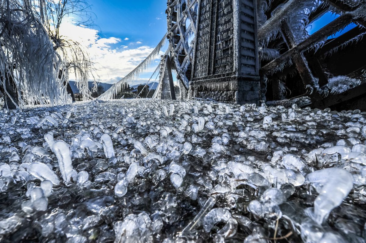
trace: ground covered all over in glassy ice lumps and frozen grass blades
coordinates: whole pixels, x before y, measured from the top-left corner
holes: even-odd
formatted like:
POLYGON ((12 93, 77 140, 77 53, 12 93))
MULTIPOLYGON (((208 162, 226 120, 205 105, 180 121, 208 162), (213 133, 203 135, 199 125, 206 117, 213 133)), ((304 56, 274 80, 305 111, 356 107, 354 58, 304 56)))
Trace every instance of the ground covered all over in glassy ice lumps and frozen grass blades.
POLYGON ((1 242, 365 242, 366 113, 134 99, 0 111, 1 242))

